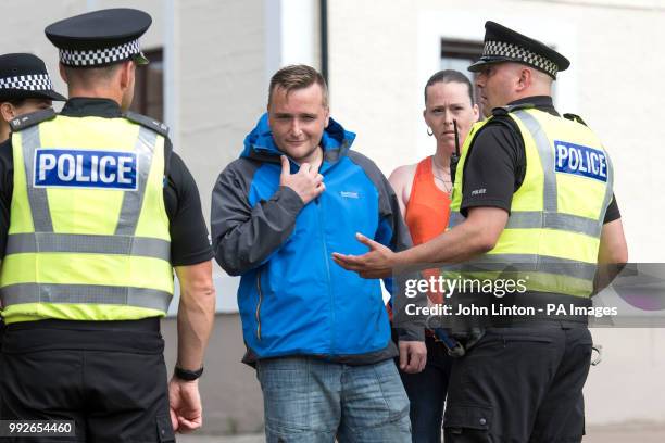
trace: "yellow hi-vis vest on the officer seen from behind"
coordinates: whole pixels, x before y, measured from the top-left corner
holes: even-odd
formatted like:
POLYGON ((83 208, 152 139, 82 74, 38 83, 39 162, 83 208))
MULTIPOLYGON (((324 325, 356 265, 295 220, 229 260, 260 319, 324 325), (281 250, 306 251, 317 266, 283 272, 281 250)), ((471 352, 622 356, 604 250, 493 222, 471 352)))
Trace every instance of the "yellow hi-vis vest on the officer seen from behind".
POLYGON ((12 147, 7 322, 164 315, 164 137, 127 118, 57 116, 14 131, 12 147))

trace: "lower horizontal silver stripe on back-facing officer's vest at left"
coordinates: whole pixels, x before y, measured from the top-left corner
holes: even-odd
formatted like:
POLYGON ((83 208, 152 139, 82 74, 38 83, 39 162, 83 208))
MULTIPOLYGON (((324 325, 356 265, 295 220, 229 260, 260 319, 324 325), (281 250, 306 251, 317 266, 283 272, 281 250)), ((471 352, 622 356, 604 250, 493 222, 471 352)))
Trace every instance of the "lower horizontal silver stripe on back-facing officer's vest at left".
POLYGON ((166 312, 171 294, 147 288, 20 283, 2 288, 2 303, 4 306, 23 303, 113 304, 166 312))

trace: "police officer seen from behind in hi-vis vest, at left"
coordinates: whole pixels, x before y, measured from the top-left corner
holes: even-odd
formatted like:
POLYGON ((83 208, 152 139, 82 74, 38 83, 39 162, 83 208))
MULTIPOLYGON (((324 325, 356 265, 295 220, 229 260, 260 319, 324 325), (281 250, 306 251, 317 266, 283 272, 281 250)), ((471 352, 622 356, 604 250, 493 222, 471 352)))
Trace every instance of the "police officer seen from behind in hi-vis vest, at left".
POLYGON ((48 26, 70 99, 13 121, 0 145, 1 418, 74 421, 58 441, 172 442, 201 426, 215 293, 199 193, 167 128, 127 112, 151 23, 113 9, 48 26), (167 384, 160 318, 174 269, 167 384))

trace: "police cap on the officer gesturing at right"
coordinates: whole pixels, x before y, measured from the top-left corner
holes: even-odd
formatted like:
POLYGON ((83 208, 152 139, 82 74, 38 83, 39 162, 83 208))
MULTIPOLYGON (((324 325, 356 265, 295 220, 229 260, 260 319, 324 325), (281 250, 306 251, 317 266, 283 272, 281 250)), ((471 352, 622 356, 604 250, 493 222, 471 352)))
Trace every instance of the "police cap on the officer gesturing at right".
POLYGON ((468 67, 478 72, 485 65, 515 62, 532 66, 552 78, 570 65, 568 59, 547 45, 494 22, 485 23, 485 47, 480 60, 468 67))

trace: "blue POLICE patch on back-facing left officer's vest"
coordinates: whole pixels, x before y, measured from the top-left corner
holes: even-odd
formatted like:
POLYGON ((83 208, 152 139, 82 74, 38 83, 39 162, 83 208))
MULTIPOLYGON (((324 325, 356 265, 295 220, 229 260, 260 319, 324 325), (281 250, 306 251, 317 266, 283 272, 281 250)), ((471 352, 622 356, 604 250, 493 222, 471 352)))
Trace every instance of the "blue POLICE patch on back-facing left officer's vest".
POLYGON ((134 152, 38 149, 33 170, 35 188, 136 190, 138 159, 134 152))

